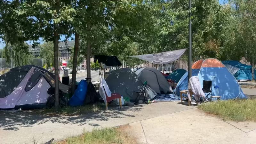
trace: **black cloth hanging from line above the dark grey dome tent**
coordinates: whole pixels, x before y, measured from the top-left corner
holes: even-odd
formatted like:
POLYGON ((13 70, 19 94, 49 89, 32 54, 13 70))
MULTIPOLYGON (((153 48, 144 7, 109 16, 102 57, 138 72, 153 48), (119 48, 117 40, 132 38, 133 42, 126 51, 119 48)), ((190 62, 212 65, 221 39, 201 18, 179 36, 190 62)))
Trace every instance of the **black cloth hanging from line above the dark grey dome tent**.
POLYGON ((107 56, 107 55, 95 55, 94 62, 98 60, 99 63, 103 63, 106 66, 121 66, 122 63, 117 59, 116 56, 107 56))

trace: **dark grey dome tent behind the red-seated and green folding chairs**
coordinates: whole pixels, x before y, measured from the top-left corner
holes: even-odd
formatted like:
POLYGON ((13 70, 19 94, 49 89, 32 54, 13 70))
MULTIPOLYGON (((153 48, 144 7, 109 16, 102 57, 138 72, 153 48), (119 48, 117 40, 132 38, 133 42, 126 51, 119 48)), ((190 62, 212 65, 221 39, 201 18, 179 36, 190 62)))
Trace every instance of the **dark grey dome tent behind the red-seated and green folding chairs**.
MULTIPOLYGON (((111 71, 106 78, 106 82, 111 92, 119 93, 123 97, 129 97, 130 100, 135 100, 137 93, 133 91, 140 90, 142 82, 139 77, 127 68, 120 68, 111 71)), ((149 87, 146 87, 147 97, 153 99, 157 94, 149 87)), ((143 97, 141 97, 143 99, 143 97)))

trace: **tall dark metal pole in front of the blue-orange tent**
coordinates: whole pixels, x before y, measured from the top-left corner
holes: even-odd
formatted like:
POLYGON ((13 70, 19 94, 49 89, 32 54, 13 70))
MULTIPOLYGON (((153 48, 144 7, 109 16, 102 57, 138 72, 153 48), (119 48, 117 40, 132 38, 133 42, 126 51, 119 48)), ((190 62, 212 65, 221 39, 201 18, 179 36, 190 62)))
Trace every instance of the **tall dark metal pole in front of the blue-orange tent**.
POLYGON ((188 7, 189 7, 189 27, 188 27, 188 80, 189 78, 192 76, 192 31, 191 31, 191 0, 189 0, 188 3, 188 7))

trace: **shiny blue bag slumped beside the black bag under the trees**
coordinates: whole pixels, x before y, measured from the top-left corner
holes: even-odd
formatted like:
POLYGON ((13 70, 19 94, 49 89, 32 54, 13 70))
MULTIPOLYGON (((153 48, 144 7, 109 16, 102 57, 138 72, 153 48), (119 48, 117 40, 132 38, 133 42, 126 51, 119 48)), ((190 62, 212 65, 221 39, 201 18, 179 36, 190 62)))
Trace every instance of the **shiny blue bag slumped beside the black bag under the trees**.
POLYGON ((87 92, 86 80, 81 80, 78 83, 76 91, 71 99, 68 101, 68 105, 71 107, 82 106, 84 104, 85 96, 87 92))

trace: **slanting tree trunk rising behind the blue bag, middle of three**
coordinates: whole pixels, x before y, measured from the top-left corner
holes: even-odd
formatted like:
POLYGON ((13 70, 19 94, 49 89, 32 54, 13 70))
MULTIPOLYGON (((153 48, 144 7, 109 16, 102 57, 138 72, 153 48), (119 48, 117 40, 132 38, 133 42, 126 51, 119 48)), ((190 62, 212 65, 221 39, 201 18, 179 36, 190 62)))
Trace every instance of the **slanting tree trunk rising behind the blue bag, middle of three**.
POLYGON ((72 85, 71 93, 74 94, 76 90, 76 67, 77 67, 77 53, 79 49, 79 34, 75 34, 75 47, 74 47, 74 56, 73 56, 73 68, 72 68, 72 85))

